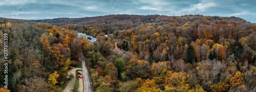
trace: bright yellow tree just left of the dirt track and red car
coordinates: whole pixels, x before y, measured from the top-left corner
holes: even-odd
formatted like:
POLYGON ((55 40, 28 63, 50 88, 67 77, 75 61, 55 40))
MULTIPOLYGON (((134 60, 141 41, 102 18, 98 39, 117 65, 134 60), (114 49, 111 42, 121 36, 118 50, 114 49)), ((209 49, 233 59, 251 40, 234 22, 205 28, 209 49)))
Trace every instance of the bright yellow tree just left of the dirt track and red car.
POLYGON ((51 89, 56 89, 55 84, 58 83, 57 81, 58 77, 59 77, 59 74, 57 71, 49 75, 47 83, 51 89))

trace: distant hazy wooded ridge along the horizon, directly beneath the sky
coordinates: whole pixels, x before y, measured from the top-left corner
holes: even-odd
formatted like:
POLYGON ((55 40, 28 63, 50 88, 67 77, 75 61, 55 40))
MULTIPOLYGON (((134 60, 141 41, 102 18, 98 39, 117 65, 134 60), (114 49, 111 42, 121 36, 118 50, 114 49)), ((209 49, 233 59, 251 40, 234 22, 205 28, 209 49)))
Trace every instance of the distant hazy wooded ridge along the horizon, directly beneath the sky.
POLYGON ((228 21, 237 21, 242 23, 250 23, 243 18, 239 17, 220 17, 220 16, 203 16, 203 15, 184 15, 184 16, 165 16, 165 15, 105 15, 95 17, 82 17, 82 18, 53 18, 53 19, 37 19, 37 20, 24 20, 24 19, 11 19, 11 18, 0 18, 0 22, 12 21, 12 22, 46 22, 51 25, 90 25, 90 24, 116 24, 116 23, 127 23, 132 22, 133 24, 146 24, 149 22, 174 22, 174 21, 195 21, 204 20, 216 21, 226 19, 228 21), (158 19, 158 20, 157 20, 158 19))

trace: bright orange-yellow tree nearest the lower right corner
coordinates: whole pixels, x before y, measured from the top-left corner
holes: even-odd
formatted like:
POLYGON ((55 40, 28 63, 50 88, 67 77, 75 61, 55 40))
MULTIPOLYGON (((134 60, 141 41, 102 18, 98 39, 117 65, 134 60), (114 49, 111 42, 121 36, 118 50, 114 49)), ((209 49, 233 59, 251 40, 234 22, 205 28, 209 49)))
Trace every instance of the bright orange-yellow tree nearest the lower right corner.
POLYGON ((237 86, 237 85, 241 85, 243 79, 244 79, 243 78, 243 73, 237 72, 236 75, 234 75, 233 77, 231 77, 229 79, 230 86, 234 87, 234 86, 237 86))

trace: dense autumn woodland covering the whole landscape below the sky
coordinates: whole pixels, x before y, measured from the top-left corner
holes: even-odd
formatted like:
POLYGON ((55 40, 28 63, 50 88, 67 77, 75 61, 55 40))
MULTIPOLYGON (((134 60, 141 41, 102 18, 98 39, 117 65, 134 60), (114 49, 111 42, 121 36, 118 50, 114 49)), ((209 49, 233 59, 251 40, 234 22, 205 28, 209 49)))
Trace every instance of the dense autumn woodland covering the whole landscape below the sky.
POLYGON ((11 91, 61 91, 67 70, 81 63, 79 53, 95 91, 256 91, 256 24, 239 17, 0 19, 0 48, 4 33, 9 38, 11 91))

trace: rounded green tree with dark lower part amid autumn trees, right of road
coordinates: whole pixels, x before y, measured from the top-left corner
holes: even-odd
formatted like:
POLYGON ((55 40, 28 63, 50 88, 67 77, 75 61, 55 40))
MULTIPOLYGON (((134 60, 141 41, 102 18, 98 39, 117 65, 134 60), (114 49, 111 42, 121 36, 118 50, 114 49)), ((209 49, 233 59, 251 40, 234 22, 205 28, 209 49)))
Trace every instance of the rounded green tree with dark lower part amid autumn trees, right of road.
POLYGON ((123 58, 116 58, 114 63, 117 67, 117 78, 121 79, 121 73, 123 72, 123 67, 125 65, 125 62, 123 58))

